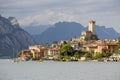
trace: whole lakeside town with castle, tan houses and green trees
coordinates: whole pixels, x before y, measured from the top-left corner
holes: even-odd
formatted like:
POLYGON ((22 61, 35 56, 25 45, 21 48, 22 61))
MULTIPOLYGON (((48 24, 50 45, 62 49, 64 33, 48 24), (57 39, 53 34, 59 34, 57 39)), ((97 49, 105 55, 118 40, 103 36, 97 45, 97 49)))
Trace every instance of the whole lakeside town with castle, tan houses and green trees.
POLYGON ((30 45, 18 53, 15 61, 120 61, 120 39, 100 40, 95 21, 88 23, 88 30, 71 40, 54 41, 51 45, 30 45))

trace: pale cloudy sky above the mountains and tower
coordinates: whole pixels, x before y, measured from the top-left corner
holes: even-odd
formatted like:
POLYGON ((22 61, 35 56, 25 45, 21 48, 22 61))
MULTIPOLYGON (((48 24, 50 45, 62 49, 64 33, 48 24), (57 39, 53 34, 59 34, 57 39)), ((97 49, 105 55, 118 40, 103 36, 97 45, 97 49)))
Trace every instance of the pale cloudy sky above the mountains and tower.
POLYGON ((0 0, 0 14, 16 17, 22 27, 95 20, 120 32, 120 0, 0 0))

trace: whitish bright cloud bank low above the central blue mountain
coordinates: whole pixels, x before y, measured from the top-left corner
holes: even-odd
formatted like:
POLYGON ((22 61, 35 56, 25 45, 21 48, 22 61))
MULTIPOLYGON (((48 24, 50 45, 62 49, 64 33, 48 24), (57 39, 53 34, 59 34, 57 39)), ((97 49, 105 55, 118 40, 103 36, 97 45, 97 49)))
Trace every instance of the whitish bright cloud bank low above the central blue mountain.
POLYGON ((57 12, 52 10, 45 10, 38 15, 27 16, 21 20, 19 23, 22 26, 29 25, 42 25, 42 24, 54 24, 58 21, 75 21, 75 16, 72 13, 67 13, 65 11, 57 12))

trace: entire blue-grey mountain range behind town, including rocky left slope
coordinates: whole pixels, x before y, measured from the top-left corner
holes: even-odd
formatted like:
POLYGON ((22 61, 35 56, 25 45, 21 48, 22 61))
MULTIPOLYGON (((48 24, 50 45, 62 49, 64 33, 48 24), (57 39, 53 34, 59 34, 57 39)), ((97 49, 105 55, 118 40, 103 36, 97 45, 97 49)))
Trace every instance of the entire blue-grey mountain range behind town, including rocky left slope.
MULTIPOLYGON (((16 54, 28 48, 29 45, 70 40, 72 37, 79 37, 82 30, 87 30, 87 27, 76 22, 58 22, 54 25, 22 28, 15 17, 5 18, 0 15, 0 58, 13 57, 13 53, 16 54)), ((120 37, 120 33, 105 26, 96 25, 96 32, 99 39, 116 39, 120 37)))

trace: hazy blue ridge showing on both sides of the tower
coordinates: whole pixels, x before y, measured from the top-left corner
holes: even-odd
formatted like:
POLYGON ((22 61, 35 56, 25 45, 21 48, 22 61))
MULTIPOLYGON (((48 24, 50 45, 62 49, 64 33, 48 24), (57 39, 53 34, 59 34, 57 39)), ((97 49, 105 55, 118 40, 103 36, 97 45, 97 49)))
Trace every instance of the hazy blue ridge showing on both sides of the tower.
MULTIPOLYGON (((58 22, 41 34, 33 37, 38 43, 51 43, 53 41, 70 40, 72 37, 80 36, 82 30, 87 30, 87 27, 76 22, 58 22)), ((106 28, 105 26, 96 25, 96 32, 99 39, 116 39, 120 37, 120 33, 113 28, 106 28)))

